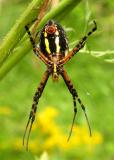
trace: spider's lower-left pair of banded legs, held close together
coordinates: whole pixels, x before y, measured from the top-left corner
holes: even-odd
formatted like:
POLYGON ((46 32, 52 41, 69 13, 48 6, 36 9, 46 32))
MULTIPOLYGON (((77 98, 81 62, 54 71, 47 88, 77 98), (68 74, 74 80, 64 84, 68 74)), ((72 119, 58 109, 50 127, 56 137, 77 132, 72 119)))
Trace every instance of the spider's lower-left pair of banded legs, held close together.
POLYGON ((42 92, 43 92, 44 87, 47 83, 49 75, 50 75, 50 71, 46 70, 44 75, 43 75, 43 79, 40 82, 40 85, 39 85, 39 87, 38 87, 38 89, 35 92, 35 95, 33 97, 33 104, 32 104, 32 108, 31 108, 31 112, 30 112, 29 119, 28 119, 28 122, 27 122, 27 125, 26 125, 26 128, 25 128, 24 136, 23 136, 23 145, 24 145, 25 144, 26 133, 27 133, 27 130, 28 130, 28 127, 29 127, 29 124, 30 124, 29 130, 28 130, 28 136, 27 136, 27 143, 26 143, 26 149, 27 150, 28 150, 28 142, 29 142, 30 132, 31 132, 31 129, 32 129, 32 124, 35 120, 35 115, 36 115, 36 110, 37 110, 37 105, 38 105, 38 102, 39 102, 39 98, 42 95, 42 92))

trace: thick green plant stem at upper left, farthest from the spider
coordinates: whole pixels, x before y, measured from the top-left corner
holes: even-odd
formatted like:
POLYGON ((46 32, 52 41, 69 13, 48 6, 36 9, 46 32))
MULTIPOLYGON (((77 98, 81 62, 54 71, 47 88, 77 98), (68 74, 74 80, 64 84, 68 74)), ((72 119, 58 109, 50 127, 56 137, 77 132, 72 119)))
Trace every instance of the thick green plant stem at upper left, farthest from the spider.
POLYGON ((5 59, 9 56, 12 49, 17 45, 25 34, 24 26, 32 20, 35 15, 38 14, 38 9, 36 6, 41 6, 42 0, 33 0, 28 6, 26 11, 21 15, 16 24, 12 27, 10 32, 6 35, 3 43, 0 46, 0 65, 3 64, 5 59))

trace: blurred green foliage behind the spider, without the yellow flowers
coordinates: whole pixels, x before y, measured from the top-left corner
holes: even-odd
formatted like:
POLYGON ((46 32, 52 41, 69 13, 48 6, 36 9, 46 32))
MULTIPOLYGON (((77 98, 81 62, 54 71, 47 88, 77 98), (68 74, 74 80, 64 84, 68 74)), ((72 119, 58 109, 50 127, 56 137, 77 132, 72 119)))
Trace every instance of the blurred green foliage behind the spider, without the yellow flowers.
MULTIPOLYGON (((94 1, 93 3, 91 2, 91 12, 94 14, 92 17, 97 20, 98 30, 87 42, 89 50, 105 51, 114 49, 114 22, 112 22, 114 17, 112 10, 110 10, 113 5, 111 2, 106 1, 108 4, 107 9, 104 7, 103 2, 101 4, 94 3, 94 1), (99 7, 102 8, 99 9, 99 7)), ((1 41, 15 23, 15 19, 24 11, 25 6, 25 3, 3 5, 2 16, 0 17, 2 22, 0 27, 1 41)), ((69 13, 64 20, 60 21, 65 28, 72 27, 75 29, 74 32, 68 32, 70 42, 78 40, 84 34, 84 9, 85 7, 82 3, 73 12, 69 13)), ((91 28, 91 26, 88 26, 88 28, 91 28)), ((74 86, 86 106, 91 128, 93 131, 96 130, 102 134, 103 143, 95 147, 92 155, 88 155, 88 152, 86 152, 87 146, 82 147, 83 150, 73 148, 67 153, 60 151, 58 148, 53 148, 53 151, 48 152, 50 159, 56 160, 59 157, 61 160, 98 160, 100 157, 101 160, 107 160, 113 157, 114 64, 107 63, 105 59, 113 59, 113 54, 95 58, 91 54, 80 53, 65 65, 74 86)), ((32 160, 35 159, 35 155, 40 157, 43 152, 34 154, 27 153, 23 148, 15 150, 12 142, 17 137, 21 139, 23 136, 32 104, 32 97, 40 83, 44 70, 44 64, 30 52, 0 82, 0 109, 5 108, 5 106, 11 109, 11 114, 0 113, 0 159, 32 160)), ((68 134, 68 126, 73 115, 73 105, 72 97, 62 78, 58 83, 53 83, 50 77, 40 99, 37 114, 44 111, 47 106, 52 106, 59 110, 60 114, 56 121, 68 134)), ((84 115, 79 105, 76 122, 79 126, 85 125, 84 115)), ((38 127, 38 130, 40 130, 40 127, 38 127)), ((34 136, 33 132, 30 141, 34 136)), ((38 137, 36 135, 36 141, 40 138, 42 136, 38 137)))

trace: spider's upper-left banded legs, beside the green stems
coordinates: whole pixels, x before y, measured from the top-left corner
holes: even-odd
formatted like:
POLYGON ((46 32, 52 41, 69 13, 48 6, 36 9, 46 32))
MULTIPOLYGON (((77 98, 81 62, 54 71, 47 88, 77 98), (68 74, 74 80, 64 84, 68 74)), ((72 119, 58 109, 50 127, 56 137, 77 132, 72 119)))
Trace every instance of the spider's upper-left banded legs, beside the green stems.
MULTIPOLYGON (((36 46, 36 42, 35 42, 35 40, 32 37, 32 34, 31 34, 30 30, 29 30, 28 25, 25 26, 25 29, 26 29, 26 32, 29 35, 30 42, 32 44, 33 51, 34 51, 35 55, 37 57, 39 57, 45 64, 47 64, 47 65, 52 64, 52 62, 47 57, 45 57, 44 54, 41 53, 40 49, 36 46)), ((36 33, 35 37, 37 36, 37 34, 38 33, 36 33)))

